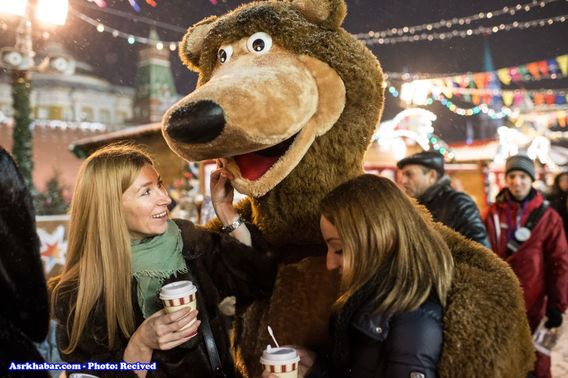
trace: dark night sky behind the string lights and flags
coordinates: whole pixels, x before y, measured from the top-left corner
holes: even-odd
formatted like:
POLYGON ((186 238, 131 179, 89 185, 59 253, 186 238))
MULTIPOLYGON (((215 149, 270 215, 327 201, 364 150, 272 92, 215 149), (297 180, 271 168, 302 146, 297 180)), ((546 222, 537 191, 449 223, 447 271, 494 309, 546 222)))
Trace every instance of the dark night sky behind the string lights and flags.
MULTIPOLYGON (((504 6, 530 3, 531 0, 348 0, 348 15, 344 27, 351 33, 366 33, 392 27, 412 26, 441 19, 464 17, 479 12, 501 9, 504 6)), ((138 0, 142 10, 134 12, 126 0, 107 0, 111 9, 122 10, 156 21, 167 22, 182 28, 194 24, 209 15, 221 15, 246 1, 219 0, 217 5, 209 0, 157 0, 152 8, 144 0, 138 0)), ((147 36, 150 26, 132 19, 119 18, 97 11, 87 0, 71 0, 71 6, 90 17, 100 20, 127 33, 147 36), (90 5, 90 7, 89 7, 90 5)), ((515 16, 503 15, 475 25, 511 23, 515 20, 533 20, 568 14, 568 1, 558 1, 531 12, 518 12, 515 16)), ((14 25, 13 23, 10 25, 14 25)), ((13 33, 0 31, 0 46, 9 45, 13 33)), ((179 40, 182 33, 158 28, 162 40, 179 40)), ((69 16, 67 24, 55 31, 52 38, 64 42, 77 58, 93 65, 95 72, 112 83, 133 85, 136 73, 137 51, 141 45, 129 45, 125 39, 113 38, 107 33, 98 33, 94 27, 76 17, 69 16)), ((527 30, 500 32, 487 37, 472 36, 446 41, 397 43, 374 45, 371 50, 379 58, 385 71, 463 73, 483 71, 483 41, 487 38, 496 68, 517 66, 532 61, 544 60, 568 53, 568 22, 527 30)), ((43 42, 38 40, 39 50, 43 42)), ((179 62, 177 52, 171 56, 178 92, 185 94, 195 86, 196 75, 179 62)), ((541 80, 525 83, 530 88, 568 88, 568 80, 541 80)), ((510 88, 519 88, 512 86, 510 88)), ((401 108, 398 99, 386 95, 383 119, 392 118, 401 108)), ((471 106, 471 105, 470 105, 471 106)), ((467 106, 466 106, 467 107, 467 106)), ((455 115, 441 105, 429 107, 438 114, 435 127, 448 141, 464 139, 464 125, 476 117, 455 115)), ((480 137, 480 135, 476 135, 480 137)))

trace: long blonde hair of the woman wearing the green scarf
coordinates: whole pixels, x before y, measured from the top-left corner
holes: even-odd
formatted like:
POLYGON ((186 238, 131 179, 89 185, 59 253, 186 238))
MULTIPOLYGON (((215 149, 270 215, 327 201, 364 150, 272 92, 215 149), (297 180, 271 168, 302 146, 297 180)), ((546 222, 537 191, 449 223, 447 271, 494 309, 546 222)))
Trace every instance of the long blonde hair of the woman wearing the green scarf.
POLYGON ((131 292, 130 236, 122 211, 122 194, 151 158, 131 145, 111 145, 81 165, 71 201, 67 258, 61 275, 50 280, 51 309, 59 295, 74 294, 65 309, 69 344, 75 350, 95 306, 105 311, 108 345, 118 329, 125 337, 135 330, 131 292))

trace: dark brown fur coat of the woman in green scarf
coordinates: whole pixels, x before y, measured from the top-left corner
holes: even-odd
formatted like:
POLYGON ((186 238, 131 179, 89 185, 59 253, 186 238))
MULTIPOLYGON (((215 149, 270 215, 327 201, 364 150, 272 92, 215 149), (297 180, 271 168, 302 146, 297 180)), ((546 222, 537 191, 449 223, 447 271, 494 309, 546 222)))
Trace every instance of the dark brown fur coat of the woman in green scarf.
MULTIPOLYGON (((165 283, 189 279, 198 285, 198 296, 204 300, 206 312, 213 331, 217 350, 224 372, 234 377, 235 370, 230 355, 230 344, 225 321, 217 305, 225 296, 235 295, 239 306, 246 306, 256 298, 267 297, 272 291, 276 275, 276 264, 264 242, 260 231, 247 223, 252 236, 253 247, 247 247, 229 235, 222 235, 196 227, 188 221, 176 220, 182 231, 183 255, 190 269, 186 275, 171 277, 165 283)), ((136 281, 133 278, 132 300, 136 312, 136 325, 143 322, 136 296, 136 281)), ((68 335, 65 321, 69 313, 69 297, 58 298, 58 344, 66 345, 68 335)), ((72 297, 74 300, 75 297, 72 297)), ((156 298, 157 301, 159 301, 156 298)), ((198 305, 198 319, 203 309, 198 305)), ((214 377, 203 341, 203 324, 199 334, 183 345, 172 350, 154 350, 152 362, 157 362, 157 371, 149 371, 148 377, 214 377)), ((107 346, 106 323, 102 304, 94 310, 87 324, 79 346, 69 355, 61 354, 68 362, 120 362, 128 339, 117 333, 118 345, 109 350, 107 346)), ((135 377, 133 371, 89 371, 100 377, 135 377)))

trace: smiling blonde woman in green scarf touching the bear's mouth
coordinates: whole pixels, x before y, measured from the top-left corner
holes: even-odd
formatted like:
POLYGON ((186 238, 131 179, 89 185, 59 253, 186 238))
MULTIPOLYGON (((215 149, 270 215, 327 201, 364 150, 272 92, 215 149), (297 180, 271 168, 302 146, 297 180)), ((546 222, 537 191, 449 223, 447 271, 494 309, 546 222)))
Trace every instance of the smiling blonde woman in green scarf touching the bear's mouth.
POLYGON ((233 208, 231 179, 223 167, 211 176, 215 211, 231 233, 224 235, 168 219, 171 200, 144 151, 115 145, 85 160, 71 203, 65 267, 50 281, 63 360, 157 365, 92 371, 101 377, 234 376, 217 303, 236 295, 242 306, 268 295, 275 266, 258 230, 233 208), (197 311, 162 310, 161 286, 178 280, 198 285, 197 311))

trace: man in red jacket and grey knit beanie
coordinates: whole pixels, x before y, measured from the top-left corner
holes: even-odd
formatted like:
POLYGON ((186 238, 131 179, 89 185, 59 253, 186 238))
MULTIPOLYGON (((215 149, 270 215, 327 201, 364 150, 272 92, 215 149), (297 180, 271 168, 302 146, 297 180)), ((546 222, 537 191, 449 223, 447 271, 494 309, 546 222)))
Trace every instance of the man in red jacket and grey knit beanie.
MULTIPOLYGON (((493 251, 519 278, 532 332, 545 312, 545 327, 560 327, 568 307, 568 246, 562 219, 532 188, 534 179, 534 163, 528 156, 507 159, 506 187, 485 220, 493 251)), ((537 378, 551 376, 549 356, 537 352, 534 373, 537 378)))

